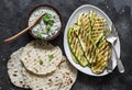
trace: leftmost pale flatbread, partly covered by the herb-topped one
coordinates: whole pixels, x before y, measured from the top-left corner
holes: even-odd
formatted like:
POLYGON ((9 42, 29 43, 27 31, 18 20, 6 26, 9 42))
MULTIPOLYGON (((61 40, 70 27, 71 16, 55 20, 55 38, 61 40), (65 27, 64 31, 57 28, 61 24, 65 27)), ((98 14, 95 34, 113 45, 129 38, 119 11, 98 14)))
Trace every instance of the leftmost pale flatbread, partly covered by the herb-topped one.
POLYGON ((21 87, 21 88, 29 88, 28 85, 24 82, 24 78, 22 75, 23 65, 21 64, 20 58, 18 57, 18 56, 21 56, 22 49, 23 47, 11 55, 10 60, 8 61, 8 65, 7 65, 8 74, 11 79, 11 82, 14 86, 21 87))

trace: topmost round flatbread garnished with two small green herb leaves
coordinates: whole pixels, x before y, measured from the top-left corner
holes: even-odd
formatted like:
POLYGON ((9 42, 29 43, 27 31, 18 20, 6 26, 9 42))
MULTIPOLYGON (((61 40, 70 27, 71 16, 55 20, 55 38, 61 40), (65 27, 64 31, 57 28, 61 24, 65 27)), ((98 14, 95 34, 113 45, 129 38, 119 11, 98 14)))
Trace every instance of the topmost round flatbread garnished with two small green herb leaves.
POLYGON ((54 71, 62 61, 62 50, 47 42, 33 41, 25 45, 21 60, 33 74, 46 75, 54 71))

